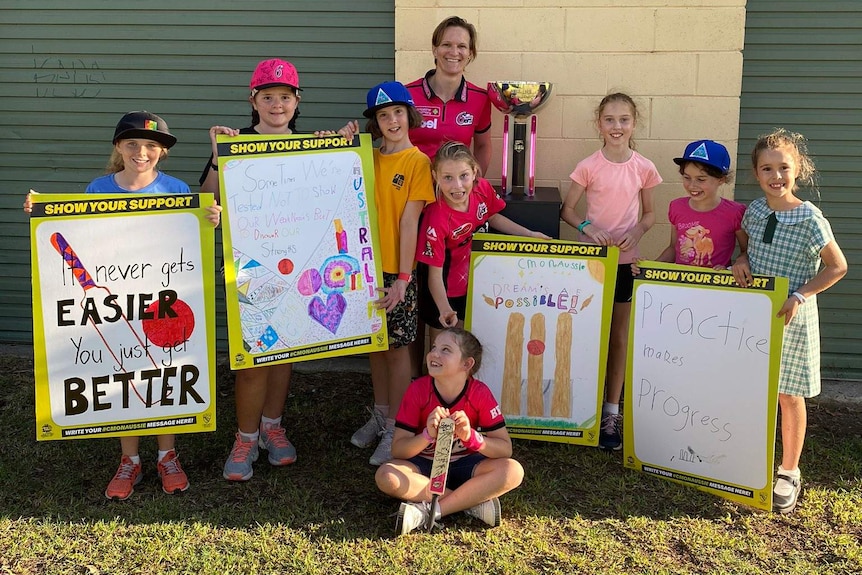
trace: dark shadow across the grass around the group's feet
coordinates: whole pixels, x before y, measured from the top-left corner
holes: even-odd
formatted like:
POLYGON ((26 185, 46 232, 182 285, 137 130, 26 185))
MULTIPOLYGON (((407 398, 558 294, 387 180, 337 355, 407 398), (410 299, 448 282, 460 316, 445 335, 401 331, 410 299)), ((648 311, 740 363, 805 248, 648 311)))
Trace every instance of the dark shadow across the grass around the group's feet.
MULTIPOLYGON (((156 446, 141 442, 144 481, 125 502, 103 491, 119 462, 116 439, 37 443, 34 439, 32 361, 0 356, 0 514, 62 522, 119 520, 131 524, 184 522, 247 528, 277 524, 301 529, 311 539, 390 538, 398 503, 374 485, 371 450, 349 437, 366 418, 371 383, 367 374, 295 374, 285 412, 288 437, 299 452, 295 464, 272 467, 265 454, 244 483, 222 479, 233 442, 233 376, 218 366, 218 430, 178 438, 191 481, 180 495, 167 495, 155 472, 156 446)), ((814 406, 806 453, 808 485, 840 487, 858 478, 862 440, 858 414, 814 406), (837 473, 836 473, 837 470, 837 473), (846 479, 842 479, 846 478, 846 479)), ((733 509, 755 514, 696 489, 625 469, 622 453, 557 443, 516 440, 515 458, 527 471, 524 484, 503 498, 504 517, 590 520, 694 516, 718 519, 733 509)), ((447 523, 470 525, 466 517, 447 523)))

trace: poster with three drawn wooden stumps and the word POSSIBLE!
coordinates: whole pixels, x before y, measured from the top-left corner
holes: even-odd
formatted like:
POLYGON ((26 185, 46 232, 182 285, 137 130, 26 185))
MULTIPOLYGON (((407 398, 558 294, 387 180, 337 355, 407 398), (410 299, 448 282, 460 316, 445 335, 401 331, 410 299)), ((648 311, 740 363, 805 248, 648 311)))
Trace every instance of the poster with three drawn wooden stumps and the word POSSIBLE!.
POLYGON ((465 325, 513 437, 597 445, 619 250, 473 238, 465 325))

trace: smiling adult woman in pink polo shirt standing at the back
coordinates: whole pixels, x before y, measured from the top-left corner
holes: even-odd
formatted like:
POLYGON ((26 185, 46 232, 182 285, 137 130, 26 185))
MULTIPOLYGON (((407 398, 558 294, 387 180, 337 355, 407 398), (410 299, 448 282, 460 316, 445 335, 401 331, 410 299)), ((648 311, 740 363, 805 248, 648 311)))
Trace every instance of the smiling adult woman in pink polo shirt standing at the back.
POLYGON ((488 92, 464 77, 476 58, 476 28, 458 16, 446 18, 431 36, 434 69, 407 84, 424 121, 410 141, 433 158, 448 140, 472 143, 482 174, 491 163, 491 101, 488 92))

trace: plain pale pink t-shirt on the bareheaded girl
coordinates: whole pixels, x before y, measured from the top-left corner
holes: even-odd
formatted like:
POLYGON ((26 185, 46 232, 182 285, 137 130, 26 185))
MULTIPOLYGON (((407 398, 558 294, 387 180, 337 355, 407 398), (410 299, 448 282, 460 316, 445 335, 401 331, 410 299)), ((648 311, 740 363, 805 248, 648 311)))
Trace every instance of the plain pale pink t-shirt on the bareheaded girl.
MULTIPOLYGON (((578 162, 569 177, 587 191, 587 219, 615 241, 638 223, 641 190, 662 182, 655 164, 635 151, 627 161, 616 163, 598 150, 578 162)), ((580 241, 592 243, 586 234, 580 234, 580 241)), ((621 250, 619 263, 630 264, 638 257, 637 246, 621 250)))

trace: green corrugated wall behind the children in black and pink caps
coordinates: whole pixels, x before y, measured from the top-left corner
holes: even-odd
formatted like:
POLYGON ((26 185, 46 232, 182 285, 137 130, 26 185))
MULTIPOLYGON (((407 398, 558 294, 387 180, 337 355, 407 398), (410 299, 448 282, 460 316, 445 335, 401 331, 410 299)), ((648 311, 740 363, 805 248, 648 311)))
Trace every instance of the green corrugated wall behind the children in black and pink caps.
POLYGON ((161 167, 197 190, 208 128, 248 125, 249 78, 270 57, 299 70, 299 130, 337 129, 394 77, 394 20, 394 0, 0 3, 0 341, 32 341, 28 188, 83 192, 120 116, 146 109, 179 140, 161 167))

